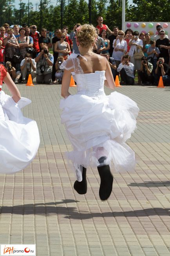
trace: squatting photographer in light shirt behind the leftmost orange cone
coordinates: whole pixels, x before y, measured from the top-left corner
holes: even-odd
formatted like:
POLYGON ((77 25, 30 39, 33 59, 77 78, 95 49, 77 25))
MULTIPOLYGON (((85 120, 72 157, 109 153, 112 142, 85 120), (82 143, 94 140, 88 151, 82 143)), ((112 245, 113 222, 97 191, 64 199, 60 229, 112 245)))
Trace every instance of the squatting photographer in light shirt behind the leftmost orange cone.
POLYGON ((20 66, 23 83, 27 83, 29 74, 31 74, 32 79, 36 77, 36 62, 31 58, 30 53, 25 54, 25 59, 21 61, 20 66))

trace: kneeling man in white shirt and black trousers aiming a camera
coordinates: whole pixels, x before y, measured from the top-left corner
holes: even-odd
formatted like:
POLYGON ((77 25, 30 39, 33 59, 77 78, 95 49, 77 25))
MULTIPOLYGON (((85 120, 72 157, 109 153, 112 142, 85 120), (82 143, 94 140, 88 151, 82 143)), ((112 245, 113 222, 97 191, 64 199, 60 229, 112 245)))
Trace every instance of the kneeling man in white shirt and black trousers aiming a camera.
POLYGON ((134 64, 129 61, 129 56, 123 55, 117 71, 120 72, 121 85, 134 85, 134 64))

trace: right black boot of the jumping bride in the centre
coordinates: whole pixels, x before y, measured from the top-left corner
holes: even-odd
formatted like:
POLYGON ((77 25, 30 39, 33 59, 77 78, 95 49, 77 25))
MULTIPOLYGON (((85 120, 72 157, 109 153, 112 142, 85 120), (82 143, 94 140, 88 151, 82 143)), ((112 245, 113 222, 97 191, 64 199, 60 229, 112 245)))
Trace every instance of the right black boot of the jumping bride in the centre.
POLYGON ((99 197, 101 200, 104 201, 110 197, 110 194, 112 192, 113 176, 110 172, 109 165, 98 166, 98 172, 101 179, 100 188, 99 188, 99 197))

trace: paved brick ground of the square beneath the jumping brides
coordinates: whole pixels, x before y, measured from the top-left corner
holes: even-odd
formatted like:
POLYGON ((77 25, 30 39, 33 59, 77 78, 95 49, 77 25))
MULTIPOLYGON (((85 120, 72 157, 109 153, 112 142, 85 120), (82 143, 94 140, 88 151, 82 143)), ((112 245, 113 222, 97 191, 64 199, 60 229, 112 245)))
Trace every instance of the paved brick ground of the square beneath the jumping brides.
POLYGON ((170 87, 116 89, 140 108, 128 140, 137 165, 134 173, 114 173, 104 202, 96 168, 88 169, 86 195, 73 190, 60 85, 18 87, 32 99, 24 114, 37 121, 41 144, 28 168, 0 175, 0 243, 36 243, 37 256, 170 256, 170 87))

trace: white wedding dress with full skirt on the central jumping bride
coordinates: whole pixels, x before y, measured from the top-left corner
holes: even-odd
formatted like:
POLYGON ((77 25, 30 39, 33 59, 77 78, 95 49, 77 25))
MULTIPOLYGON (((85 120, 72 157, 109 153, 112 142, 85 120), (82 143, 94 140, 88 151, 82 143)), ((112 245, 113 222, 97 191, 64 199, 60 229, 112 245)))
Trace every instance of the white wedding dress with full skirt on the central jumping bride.
POLYGON ((113 161, 116 171, 134 170, 134 151, 125 142, 136 129, 137 104, 118 92, 106 96, 105 71, 84 74, 74 53, 60 68, 74 68, 72 76, 77 84, 77 94, 60 102, 61 123, 73 147, 67 158, 72 161, 77 180, 82 180, 81 166, 99 166, 102 154, 106 157, 104 164, 113 161))

